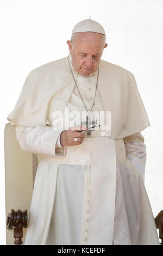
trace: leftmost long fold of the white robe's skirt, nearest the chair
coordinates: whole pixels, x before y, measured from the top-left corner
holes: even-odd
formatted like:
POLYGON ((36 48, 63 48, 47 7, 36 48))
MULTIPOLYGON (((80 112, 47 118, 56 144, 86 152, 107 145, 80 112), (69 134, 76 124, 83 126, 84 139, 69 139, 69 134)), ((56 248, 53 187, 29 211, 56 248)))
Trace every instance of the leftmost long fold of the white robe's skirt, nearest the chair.
POLYGON ((55 199, 58 164, 53 164, 52 168, 49 163, 46 172, 44 164, 45 162, 40 162, 37 168, 24 245, 46 245, 47 241, 55 199))

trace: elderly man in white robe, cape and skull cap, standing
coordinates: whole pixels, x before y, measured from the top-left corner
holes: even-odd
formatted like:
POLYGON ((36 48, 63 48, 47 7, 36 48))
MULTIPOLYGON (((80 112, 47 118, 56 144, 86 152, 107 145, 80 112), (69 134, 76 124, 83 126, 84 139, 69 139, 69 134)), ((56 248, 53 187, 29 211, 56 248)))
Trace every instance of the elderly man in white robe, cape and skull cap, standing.
POLYGON ((107 45, 95 21, 79 22, 67 44, 68 58, 30 72, 8 116, 40 161, 24 245, 159 245, 144 186, 149 121, 134 76, 101 60, 107 45), (57 111, 92 106, 111 112, 103 132, 56 129, 57 111))

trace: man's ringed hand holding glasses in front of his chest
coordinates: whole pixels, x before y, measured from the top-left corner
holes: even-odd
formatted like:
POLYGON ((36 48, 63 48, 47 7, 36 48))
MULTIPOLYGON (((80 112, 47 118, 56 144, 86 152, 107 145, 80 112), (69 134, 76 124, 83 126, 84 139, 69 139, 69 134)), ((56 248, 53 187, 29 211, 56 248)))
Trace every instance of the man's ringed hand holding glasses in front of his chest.
POLYGON ((62 131, 60 135, 60 144, 64 146, 75 146, 83 143, 85 133, 78 132, 80 130, 87 131, 86 126, 73 126, 69 127, 68 130, 62 131), (74 138, 78 138, 78 141, 75 142, 74 138))

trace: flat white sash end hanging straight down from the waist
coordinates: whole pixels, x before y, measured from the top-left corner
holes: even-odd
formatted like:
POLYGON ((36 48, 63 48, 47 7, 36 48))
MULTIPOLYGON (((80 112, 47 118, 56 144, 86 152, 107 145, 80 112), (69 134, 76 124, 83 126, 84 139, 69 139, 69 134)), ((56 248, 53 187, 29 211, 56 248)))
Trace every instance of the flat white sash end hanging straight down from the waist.
POLYGON ((116 194, 114 139, 92 138, 87 245, 112 245, 116 194))

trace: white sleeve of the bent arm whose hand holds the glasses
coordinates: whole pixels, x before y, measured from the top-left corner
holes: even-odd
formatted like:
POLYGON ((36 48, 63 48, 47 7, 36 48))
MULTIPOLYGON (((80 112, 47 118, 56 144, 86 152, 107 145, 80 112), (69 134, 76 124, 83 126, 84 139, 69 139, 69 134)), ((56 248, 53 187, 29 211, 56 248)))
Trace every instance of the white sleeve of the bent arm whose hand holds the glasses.
POLYGON ((21 149, 35 154, 46 154, 49 156, 65 156, 66 147, 62 147, 57 153, 58 139, 61 131, 53 130, 50 126, 16 126, 16 139, 21 149), (57 147, 56 147, 57 146, 57 147))

